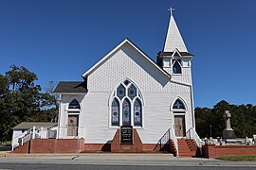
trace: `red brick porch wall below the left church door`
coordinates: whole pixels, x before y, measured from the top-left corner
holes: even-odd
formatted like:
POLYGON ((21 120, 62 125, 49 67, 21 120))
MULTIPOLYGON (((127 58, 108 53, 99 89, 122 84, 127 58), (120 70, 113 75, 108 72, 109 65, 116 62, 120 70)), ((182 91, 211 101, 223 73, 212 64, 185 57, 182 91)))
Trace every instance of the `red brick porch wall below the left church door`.
POLYGON ((84 139, 33 139, 14 149, 13 153, 80 153, 84 139))

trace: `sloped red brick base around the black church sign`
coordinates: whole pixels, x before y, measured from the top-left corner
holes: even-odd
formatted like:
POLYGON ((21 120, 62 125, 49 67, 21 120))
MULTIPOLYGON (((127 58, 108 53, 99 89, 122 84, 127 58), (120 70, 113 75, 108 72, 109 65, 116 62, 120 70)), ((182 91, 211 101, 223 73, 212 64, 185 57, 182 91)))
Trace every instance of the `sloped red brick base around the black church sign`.
POLYGON ((111 152, 117 153, 139 153, 142 152, 142 143, 137 134, 137 130, 134 130, 134 144, 120 144, 120 130, 118 129, 113 141, 111 143, 111 152))

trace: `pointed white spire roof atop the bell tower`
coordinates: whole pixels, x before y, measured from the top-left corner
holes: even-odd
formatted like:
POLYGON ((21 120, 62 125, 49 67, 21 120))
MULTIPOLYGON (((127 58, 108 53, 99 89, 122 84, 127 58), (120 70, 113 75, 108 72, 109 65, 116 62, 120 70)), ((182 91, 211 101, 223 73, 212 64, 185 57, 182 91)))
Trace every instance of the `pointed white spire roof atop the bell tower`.
POLYGON ((171 9, 171 18, 165 38, 163 52, 174 52, 175 49, 178 49, 180 52, 188 52, 175 23, 174 15, 171 9))

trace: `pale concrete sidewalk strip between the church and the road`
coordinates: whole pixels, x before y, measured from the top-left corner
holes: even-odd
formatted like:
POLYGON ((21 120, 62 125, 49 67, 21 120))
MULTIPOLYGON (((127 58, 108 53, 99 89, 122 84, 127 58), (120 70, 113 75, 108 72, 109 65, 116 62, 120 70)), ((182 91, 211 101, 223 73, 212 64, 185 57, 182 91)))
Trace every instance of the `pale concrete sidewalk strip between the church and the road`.
POLYGON ((0 163, 54 163, 157 166, 253 166, 256 161, 219 161, 203 158, 176 158, 171 154, 9 154, 0 153, 0 163))

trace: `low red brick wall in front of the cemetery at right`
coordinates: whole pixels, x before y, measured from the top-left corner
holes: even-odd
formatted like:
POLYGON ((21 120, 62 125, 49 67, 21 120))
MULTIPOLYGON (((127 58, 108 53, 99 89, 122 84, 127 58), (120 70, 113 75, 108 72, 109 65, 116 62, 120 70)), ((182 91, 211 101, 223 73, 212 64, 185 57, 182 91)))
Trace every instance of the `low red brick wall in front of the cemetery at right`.
POLYGON ((225 155, 256 155, 256 145, 203 145, 203 156, 206 158, 225 155))

